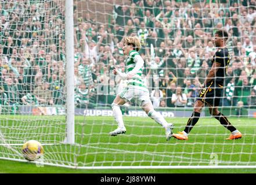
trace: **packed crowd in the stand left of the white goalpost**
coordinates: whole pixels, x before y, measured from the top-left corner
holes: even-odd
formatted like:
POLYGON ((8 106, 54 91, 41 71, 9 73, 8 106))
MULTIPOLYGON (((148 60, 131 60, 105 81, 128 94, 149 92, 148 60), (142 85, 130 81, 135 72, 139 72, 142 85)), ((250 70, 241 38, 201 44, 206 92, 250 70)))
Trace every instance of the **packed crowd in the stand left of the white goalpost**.
MULTIPOLYGON (((64 102, 64 3, 0 2, 0 108, 64 102)), ((10 111, 7 109, 6 111, 10 111)))

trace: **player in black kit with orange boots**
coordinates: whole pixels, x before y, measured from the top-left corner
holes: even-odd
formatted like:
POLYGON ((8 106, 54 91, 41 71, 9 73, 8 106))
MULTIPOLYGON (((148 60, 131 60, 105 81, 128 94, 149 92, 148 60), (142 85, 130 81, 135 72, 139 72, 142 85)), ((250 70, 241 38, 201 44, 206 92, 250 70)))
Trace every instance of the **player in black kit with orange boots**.
POLYGON ((199 120, 201 110, 205 104, 209 106, 211 115, 231 132, 229 138, 227 138, 228 140, 241 138, 241 132, 233 127, 226 116, 224 116, 218 110, 219 101, 222 97, 222 88, 226 69, 228 68, 230 62, 228 49, 225 47, 225 42, 227 39, 228 33, 226 31, 219 30, 215 32, 213 43, 218 50, 212 58, 211 70, 204 80, 203 89, 200 92, 199 98, 197 98, 197 101, 194 103, 194 112, 188 120, 185 129, 178 134, 172 134, 174 138, 188 140, 188 134, 199 120))

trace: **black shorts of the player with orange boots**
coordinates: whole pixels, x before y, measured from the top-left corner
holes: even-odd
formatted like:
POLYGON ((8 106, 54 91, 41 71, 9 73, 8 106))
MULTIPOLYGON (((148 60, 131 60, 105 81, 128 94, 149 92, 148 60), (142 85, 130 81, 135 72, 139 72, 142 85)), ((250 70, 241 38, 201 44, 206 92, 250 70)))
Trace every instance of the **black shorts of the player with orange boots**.
POLYGON ((198 100, 207 103, 210 106, 219 106, 219 102, 222 98, 222 86, 205 87, 200 91, 198 100))

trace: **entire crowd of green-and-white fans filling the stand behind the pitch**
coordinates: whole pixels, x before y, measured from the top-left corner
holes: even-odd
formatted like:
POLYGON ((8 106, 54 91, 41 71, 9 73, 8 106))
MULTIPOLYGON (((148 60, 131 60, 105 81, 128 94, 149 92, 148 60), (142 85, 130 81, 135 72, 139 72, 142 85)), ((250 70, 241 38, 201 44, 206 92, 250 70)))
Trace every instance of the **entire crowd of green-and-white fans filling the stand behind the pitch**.
MULTIPOLYGON (((110 3, 111 1, 108 1, 110 3)), ((126 1, 127 2, 127 1, 126 1)), ((1 105, 65 103, 62 1, 1 1, 1 105)), ((145 83, 155 108, 192 107, 211 68, 212 36, 228 31, 232 57, 222 106, 256 108, 256 2, 132 0, 106 24, 74 6, 75 106, 108 106, 126 86, 122 38, 138 36, 145 83)), ((136 105, 131 102, 130 105, 136 105)))

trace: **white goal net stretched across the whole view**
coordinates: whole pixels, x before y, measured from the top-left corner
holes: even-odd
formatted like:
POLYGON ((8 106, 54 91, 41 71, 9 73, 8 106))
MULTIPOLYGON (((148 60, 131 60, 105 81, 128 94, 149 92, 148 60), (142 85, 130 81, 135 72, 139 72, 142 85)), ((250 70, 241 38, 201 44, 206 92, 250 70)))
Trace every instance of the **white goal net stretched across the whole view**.
POLYGON ((21 145, 34 139, 45 148, 44 164, 70 168, 256 166, 253 2, 74 0, 73 5, 74 27, 64 0, 0 4, 0 159, 24 161, 21 145), (220 99, 218 110, 241 139, 225 140, 230 132, 205 106, 189 140, 166 141, 161 125, 134 99, 120 106, 126 134, 109 135, 118 126, 111 104, 127 86, 112 73, 127 70, 124 36, 140 39, 150 99, 176 133, 193 113, 219 29, 228 32, 230 61, 222 93, 212 101, 220 99), (67 38, 74 38, 72 49, 67 38), (72 82, 67 74, 74 74, 72 82))

